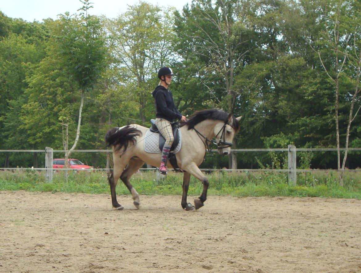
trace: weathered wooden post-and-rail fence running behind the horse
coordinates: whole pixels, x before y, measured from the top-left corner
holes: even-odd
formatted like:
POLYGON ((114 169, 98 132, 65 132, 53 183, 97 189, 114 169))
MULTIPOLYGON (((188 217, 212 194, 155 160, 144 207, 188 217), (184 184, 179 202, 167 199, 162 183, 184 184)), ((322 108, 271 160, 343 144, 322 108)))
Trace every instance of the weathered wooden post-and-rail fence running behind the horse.
MULTIPOLYGON (((221 169, 222 171, 229 172, 287 172, 288 173, 288 182, 290 185, 296 185, 297 182, 297 172, 324 172, 322 169, 297 169, 296 168, 296 155, 298 151, 337 151, 337 148, 296 148, 293 145, 288 145, 287 148, 277 148, 277 149, 231 149, 231 153, 239 152, 286 152, 288 153, 288 168, 287 169, 221 169)), ((340 151, 345 151, 346 148, 340 148, 340 151)), ((348 148, 348 151, 361 151, 361 148, 348 148)), ((36 152, 36 153, 45 153, 45 168, 0 168, 0 170, 44 170, 46 172, 45 180, 46 182, 51 182, 53 179, 54 170, 73 170, 73 169, 53 169, 53 153, 66 152, 65 150, 54 150, 51 147, 46 147, 45 150, 0 150, 0 152, 9 153, 9 152, 36 152)), ((74 150, 73 152, 96 152, 96 153, 112 153, 112 150, 74 150)), ((217 149, 212 149, 211 152, 217 152, 217 149)), ((231 155, 229 155, 231 157, 231 155)), ((232 157, 231 157, 232 158, 232 157)), ((107 168, 97 170, 111 170, 109 168, 110 157, 107 156, 106 166, 107 168)), ((232 166, 232 164, 230 164, 232 166)), ((141 170, 155 170, 156 168, 141 169, 141 170)), ((201 169, 203 171, 216 171, 220 169, 201 169)), ((330 169, 328 169, 330 170, 330 169)), ((345 169, 345 170, 335 170, 337 172, 359 172, 361 169, 345 169)))

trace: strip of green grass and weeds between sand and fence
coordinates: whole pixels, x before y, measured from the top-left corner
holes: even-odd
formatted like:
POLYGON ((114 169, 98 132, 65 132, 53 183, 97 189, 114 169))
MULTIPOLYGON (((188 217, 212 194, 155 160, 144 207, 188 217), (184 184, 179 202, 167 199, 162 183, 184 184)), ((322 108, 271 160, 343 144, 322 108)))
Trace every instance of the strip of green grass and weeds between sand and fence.
MULTIPOLYGON (((361 174, 345 173, 344 187, 339 186, 336 172, 297 174, 297 186, 290 186, 286 173, 261 172, 214 172, 208 174, 210 186, 208 195, 247 196, 297 196, 361 199, 361 174)), ((182 174, 169 173, 156 181, 154 171, 138 172, 131 178, 132 185, 142 195, 181 195, 182 174)), ((129 194, 119 181, 117 194, 129 194)), ((202 183, 192 177, 188 195, 199 195, 202 183)), ((83 192, 89 194, 109 194, 107 175, 99 172, 70 172, 68 181, 64 173, 55 173, 52 183, 45 183, 44 172, 24 170, 0 172, 0 190, 42 191, 42 192, 83 192)))

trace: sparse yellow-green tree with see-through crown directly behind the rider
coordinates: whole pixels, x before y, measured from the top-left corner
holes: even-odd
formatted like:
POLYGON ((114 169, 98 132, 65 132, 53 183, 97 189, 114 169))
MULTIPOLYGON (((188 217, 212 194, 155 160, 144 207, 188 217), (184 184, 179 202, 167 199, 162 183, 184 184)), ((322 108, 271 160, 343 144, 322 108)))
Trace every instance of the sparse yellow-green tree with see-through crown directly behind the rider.
POLYGON ((139 119, 146 121, 145 109, 157 69, 169 64, 174 54, 170 47, 172 23, 169 11, 140 1, 129 6, 127 12, 115 20, 108 20, 110 44, 121 82, 136 94, 139 101, 139 119))

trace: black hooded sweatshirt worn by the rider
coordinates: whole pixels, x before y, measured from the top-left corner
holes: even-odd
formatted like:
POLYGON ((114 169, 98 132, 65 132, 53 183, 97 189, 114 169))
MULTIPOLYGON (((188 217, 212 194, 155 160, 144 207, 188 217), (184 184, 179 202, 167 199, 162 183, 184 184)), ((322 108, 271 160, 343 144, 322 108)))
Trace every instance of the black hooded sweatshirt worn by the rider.
POLYGON ((155 99, 157 118, 165 118, 169 122, 172 122, 175 118, 179 120, 182 118, 182 114, 175 107, 173 95, 169 89, 158 85, 152 92, 152 96, 155 99))

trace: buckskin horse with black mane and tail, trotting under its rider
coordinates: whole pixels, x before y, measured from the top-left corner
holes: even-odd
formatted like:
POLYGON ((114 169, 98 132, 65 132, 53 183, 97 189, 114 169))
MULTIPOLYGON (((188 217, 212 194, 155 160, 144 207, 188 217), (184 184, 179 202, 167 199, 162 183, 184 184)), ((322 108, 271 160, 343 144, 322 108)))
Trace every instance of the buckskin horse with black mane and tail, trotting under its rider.
MULTIPOLYGON (((181 149, 175 153, 179 168, 183 170, 183 195, 181 205, 186 211, 203 207, 207 199, 208 179, 199 169, 204 161, 205 153, 210 143, 217 144, 218 152, 225 156, 230 153, 232 140, 239 131, 239 120, 232 114, 221 109, 206 109, 195 112, 186 122, 181 124, 181 149), (216 142, 213 137, 218 140, 216 142), (187 203, 188 187, 191 175, 203 184, 203 191, 194 204, 187 203)), ((139 194, 130 183, 130 177, 144 163, 157 166, 161 160, 158 153, 145 152, 142 142, 148 128, 138 124, 123 127, 113 127, 105 135, 106 146, 113 148, 114 168, 108 175, 113 208, 122 210, 124 207, 117 202, 116 186, 119 178, 126 185, 137 209, 140 207, 139 194)), ((168 166, 171 163, 167 162, 168 166)), ((173 167, 173 166, 172 166, 173 167)))

